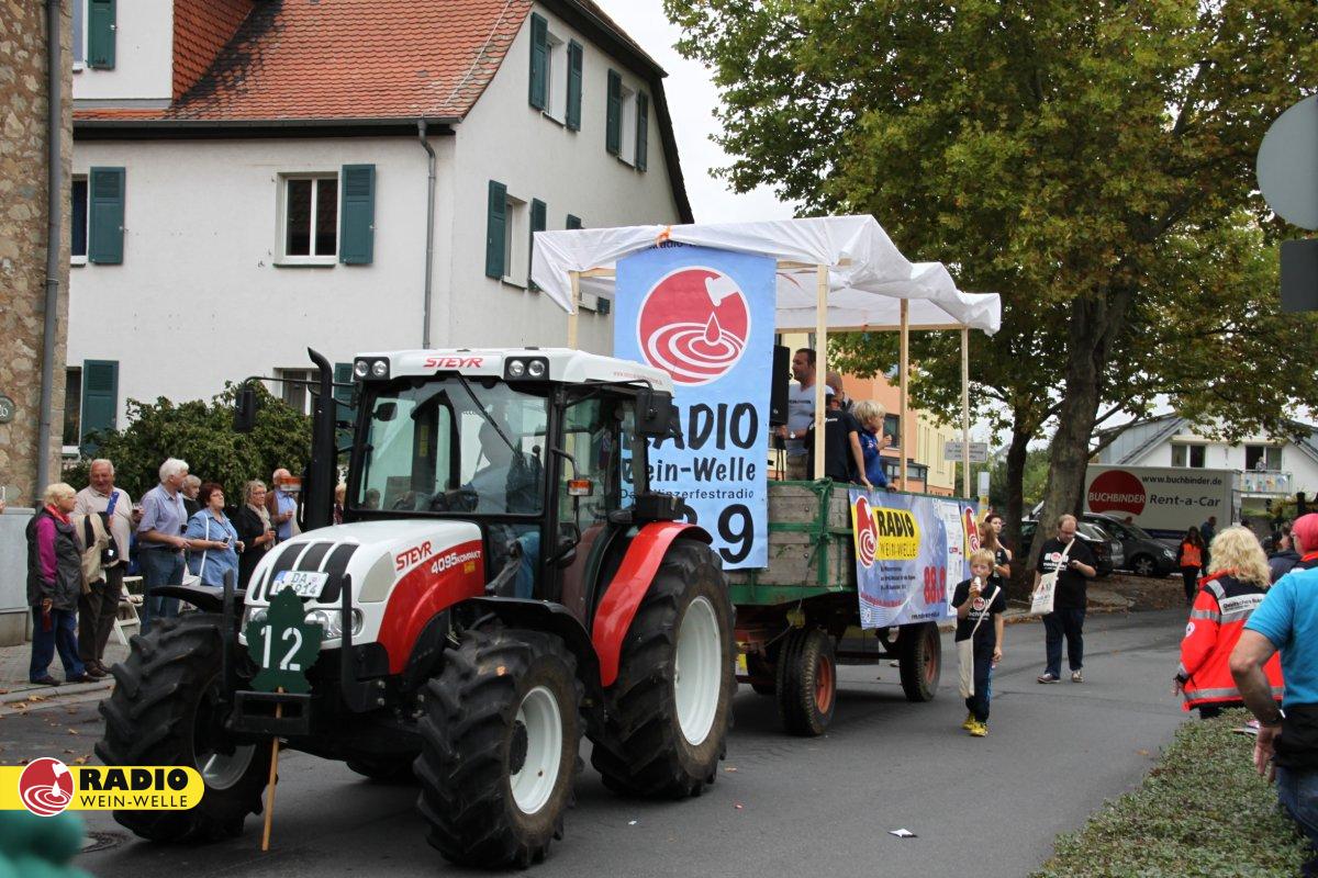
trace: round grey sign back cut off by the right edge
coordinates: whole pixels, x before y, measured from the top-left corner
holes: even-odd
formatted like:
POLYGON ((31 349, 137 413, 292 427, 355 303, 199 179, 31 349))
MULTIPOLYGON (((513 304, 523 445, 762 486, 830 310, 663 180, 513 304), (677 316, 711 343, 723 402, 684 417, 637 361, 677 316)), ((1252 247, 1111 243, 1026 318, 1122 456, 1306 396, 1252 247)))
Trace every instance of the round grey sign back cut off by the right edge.
POLYGON ((1318 95, 1294 104, 1263 136, 1259 191, 1281 219, 1318 229, 1318 95))

